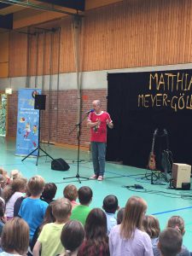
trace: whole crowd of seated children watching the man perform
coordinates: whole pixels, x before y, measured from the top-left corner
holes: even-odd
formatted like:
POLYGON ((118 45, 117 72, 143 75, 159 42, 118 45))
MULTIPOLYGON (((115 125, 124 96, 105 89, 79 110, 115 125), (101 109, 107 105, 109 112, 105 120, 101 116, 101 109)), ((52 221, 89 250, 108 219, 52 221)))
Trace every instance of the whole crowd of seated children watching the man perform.
POLYGON ((90 187, 78 190, 69 184, 63 190, 64 198, 54 201, 55 183, 45 184, 43 177, 35 176, 26 187, 26 179, 18 170, 10 177, 0 168, 0 255, 26 255, 27 237, 34 256, 190 255, 182 245, 183 218, 172 216, 166 230, 160 232, 158 219, 145 215, 147 203, 140 197, 131 196, 119 209, 117 197, 107 195, 103 212, 100 208, 91 210, 90 187))

